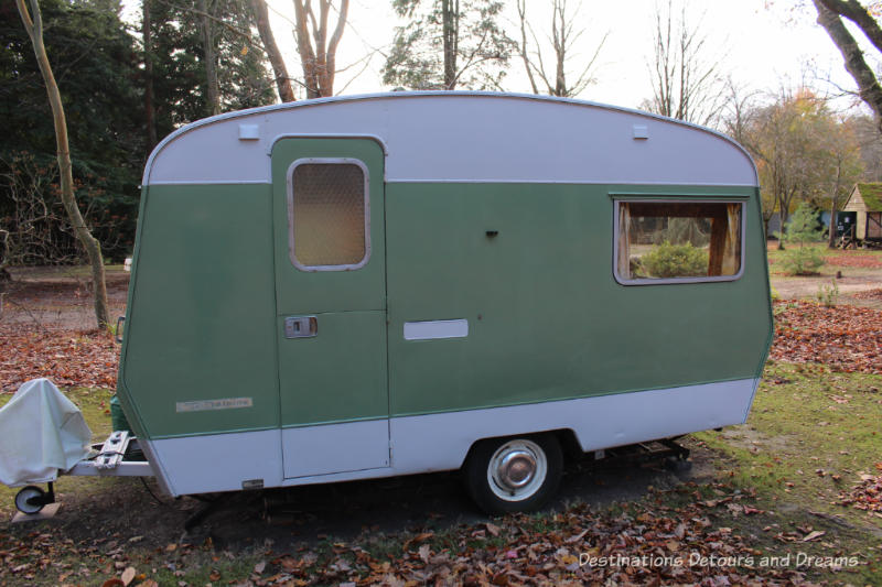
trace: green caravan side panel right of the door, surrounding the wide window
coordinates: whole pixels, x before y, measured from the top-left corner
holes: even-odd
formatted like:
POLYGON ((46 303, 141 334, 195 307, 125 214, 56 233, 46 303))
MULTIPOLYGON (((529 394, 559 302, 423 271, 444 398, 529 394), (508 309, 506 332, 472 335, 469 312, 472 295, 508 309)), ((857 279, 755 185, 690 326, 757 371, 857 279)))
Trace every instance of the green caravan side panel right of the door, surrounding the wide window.
POLYGON ((386 198, 392 415, 750 379, 765 358, 754 188, 400 183, 386 198), (744 275, 619 284, 612 194, 750 198, 744 275), (453 318, 467 337, 404 339, 406 322, 453 318))

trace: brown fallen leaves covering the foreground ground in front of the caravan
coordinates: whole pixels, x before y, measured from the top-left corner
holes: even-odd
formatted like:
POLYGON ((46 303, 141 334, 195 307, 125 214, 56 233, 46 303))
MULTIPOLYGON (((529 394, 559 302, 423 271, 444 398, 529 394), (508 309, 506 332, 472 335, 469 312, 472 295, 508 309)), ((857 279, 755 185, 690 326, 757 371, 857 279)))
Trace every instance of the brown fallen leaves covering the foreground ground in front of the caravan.
POLYGON ((439 531, 327 540, 315 548, 266 543, 245 554, 215 548, 211 539, 146 548, 141 536, 60 540, 44 529, 23 542, 0 532, 0 581, 795 586, 811 585, 807 576, 818 569, 848 574, 868 564, 864 553, 847 552, 826 530, 782 528, 753 498, 731 485, 686 483, 622 509, 578 504, 439 531))

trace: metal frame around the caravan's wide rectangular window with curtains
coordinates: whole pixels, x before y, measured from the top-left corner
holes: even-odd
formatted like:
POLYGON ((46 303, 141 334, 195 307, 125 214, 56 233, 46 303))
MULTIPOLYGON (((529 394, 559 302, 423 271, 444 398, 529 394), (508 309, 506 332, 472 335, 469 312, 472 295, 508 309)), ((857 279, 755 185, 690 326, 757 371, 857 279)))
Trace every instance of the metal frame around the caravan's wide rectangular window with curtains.
POLYGON ((627 196, 613 196, 613 278, 620 285, 676 285, 676 284, 686 284, 686 283, 716 283, 716 282, 724 282, 724 281, 738 281, 744 275, 744 263, 746 261, 745 250, 746 250, 746 209, 747 209, 747 197, 738 197, 738 196, 727 196, 727 197, 649 197, 649 196, 638 196, 638 195, 627 195, 627 196), (741 227, 740 227, 740 238, 741 238, 741 260, 739 263, 738 273, 733 275, 713 275, 713 276, 701 276, 701 278, 662 278, 662 279, 648 279, 648 278, 637 278, 637 279, 625 279, 619 273, 619 237, 620 237, 620 229, 619 226, 619 215, 620 215, 620 206, 622 204, 739 204, 741 206, 741 227))

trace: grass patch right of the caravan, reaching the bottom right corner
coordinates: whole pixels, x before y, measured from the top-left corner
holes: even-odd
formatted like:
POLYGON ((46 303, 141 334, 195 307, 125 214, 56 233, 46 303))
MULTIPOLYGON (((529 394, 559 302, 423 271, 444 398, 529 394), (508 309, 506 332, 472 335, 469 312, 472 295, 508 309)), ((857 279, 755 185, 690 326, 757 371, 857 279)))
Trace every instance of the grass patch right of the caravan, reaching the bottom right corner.
MULTIPOLYGON (((746 424, 695 435, 720 456, 718 465, 729 469, 723 477, 755 488, 757 507, 770 512, 728 523, 754 533, 757 548, 771 554, 841 552, 875 561, 849 581, 882 585, 882 518, 837 504, 840 491, 850 490, 861 472, 878 472, 874 465, 882 461, 880 390, 880 376, 770 362, 746 424), (827 535, 818 543, 784 542, 787 532, 808 528, 827 535)), ((843 579, 830 572, 818 577, 843 579)))

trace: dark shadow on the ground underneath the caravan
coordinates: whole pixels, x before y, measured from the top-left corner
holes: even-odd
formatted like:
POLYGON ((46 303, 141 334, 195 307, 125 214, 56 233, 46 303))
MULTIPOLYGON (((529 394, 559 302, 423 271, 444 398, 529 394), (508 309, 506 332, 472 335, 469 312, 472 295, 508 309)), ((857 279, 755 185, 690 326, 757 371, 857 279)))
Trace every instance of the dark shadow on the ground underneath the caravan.
MULTIPOLYGON (((674 471, 663 460, 599 466, 591 455, 571 459, 549 509, 561 510, 572 502, 606 507, 641 499, 650 487, 707 480, 712 475, 707 457, 699 454, 693 461, 691 469, 674 471)), ((135 539, 147 547, 203 544, 211 539, 215 547, 234 552, 271 540, 278 552, 325 540, 351 541, 364 533, 441 531, 487 520, 472 503, 459 472, 226 493, 190 531, 185 523, 205 502, 159 496, 158 503, 148 491, 157 492, 152 481, 147 486, 138 479, 108 481, 111 487, 94 496, 62 493, 64 507, 57 518, 14 524, 10 532, 24 536, 52 528, 75 542, 135 539)))

